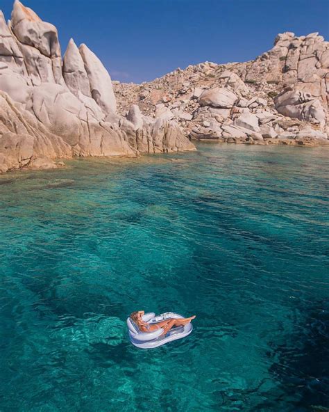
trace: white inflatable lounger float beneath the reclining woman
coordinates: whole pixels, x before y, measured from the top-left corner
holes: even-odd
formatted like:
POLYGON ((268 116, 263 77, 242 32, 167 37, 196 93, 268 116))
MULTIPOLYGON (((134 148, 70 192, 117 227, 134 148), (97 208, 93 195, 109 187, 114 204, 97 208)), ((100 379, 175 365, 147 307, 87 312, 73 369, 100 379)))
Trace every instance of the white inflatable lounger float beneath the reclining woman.
MULTIPOLYGON (((148 324, 156 324, 165 319, 182 319, 182 315, 178 315, 178 313, 174 312, 166 312, 162 313, 161 315, 155 316, 154 312, 145 313, 142 317, 144 322, 148 324)), ((133 322, 130 317, 127 319, 128 331, 129 331, 129 338, 130 342, 134 344, 136 347, 142 349, 152 349, 162 344, 171 342, 172 340, 185 338, 185 336, 189 335, 192 332, 193 326, 192 323, 185 326, 177 326, 171 328, 170 331, 166 334, 161 336, 163 332, 163 328, 158 328, 156 331, 153 332, 142 332, 140 328, 138 328, 137 324, 133 322)))

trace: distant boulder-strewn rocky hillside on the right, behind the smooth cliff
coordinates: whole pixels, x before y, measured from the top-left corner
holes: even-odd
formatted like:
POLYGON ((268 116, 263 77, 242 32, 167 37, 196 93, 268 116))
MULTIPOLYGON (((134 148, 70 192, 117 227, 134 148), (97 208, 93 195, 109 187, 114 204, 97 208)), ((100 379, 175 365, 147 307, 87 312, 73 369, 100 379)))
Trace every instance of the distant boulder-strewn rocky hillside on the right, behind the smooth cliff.
POLYGON ((192 139, 317 145, 328 141, 329 43, 319 33, 279 34, 246 63, 205 62, 141 85, 114 82, 118 109, 132 102, 176 120, 192 139))

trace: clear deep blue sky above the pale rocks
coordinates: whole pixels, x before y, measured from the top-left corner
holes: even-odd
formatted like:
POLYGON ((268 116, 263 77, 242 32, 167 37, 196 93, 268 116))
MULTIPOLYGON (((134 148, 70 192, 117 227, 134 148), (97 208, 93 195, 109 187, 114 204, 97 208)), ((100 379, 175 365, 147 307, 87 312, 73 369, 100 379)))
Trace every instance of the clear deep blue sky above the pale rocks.
MULTIPOLYGON (((85 42, 112 79, 148 81, 202 61, 248 61, 277 33, 319 31, 329 40, 328 0, 26 0, 69 38, 85 42)), ((6 19, 12 0, 1 0, 6 19)))

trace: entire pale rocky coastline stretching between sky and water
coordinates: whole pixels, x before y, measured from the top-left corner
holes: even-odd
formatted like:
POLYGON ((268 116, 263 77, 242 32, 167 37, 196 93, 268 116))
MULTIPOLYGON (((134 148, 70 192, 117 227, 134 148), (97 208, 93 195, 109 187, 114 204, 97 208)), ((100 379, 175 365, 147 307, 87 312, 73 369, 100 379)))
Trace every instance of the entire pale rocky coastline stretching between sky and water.
POLYGON ((71 157, 196 150, 193 141, 326 145, 329 43, 278 35, 247 63, 201 63, 149 83, 112 81, 99 58, 16 0, 0 12, 0 173, 71 157))

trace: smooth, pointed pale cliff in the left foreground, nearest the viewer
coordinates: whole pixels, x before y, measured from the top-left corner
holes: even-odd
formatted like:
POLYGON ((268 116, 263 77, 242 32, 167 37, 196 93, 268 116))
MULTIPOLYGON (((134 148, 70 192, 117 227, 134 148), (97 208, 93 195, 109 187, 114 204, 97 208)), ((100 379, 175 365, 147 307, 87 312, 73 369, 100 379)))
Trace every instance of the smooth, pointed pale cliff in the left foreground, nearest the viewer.
POLYGON ((137 106, 117 114, 110 75, 86 45, 70 40, 62 58, 55 26, 18 0, 8 24, 0 12, 0 172, 178 150, 194 145, 176 122, 137 106))

